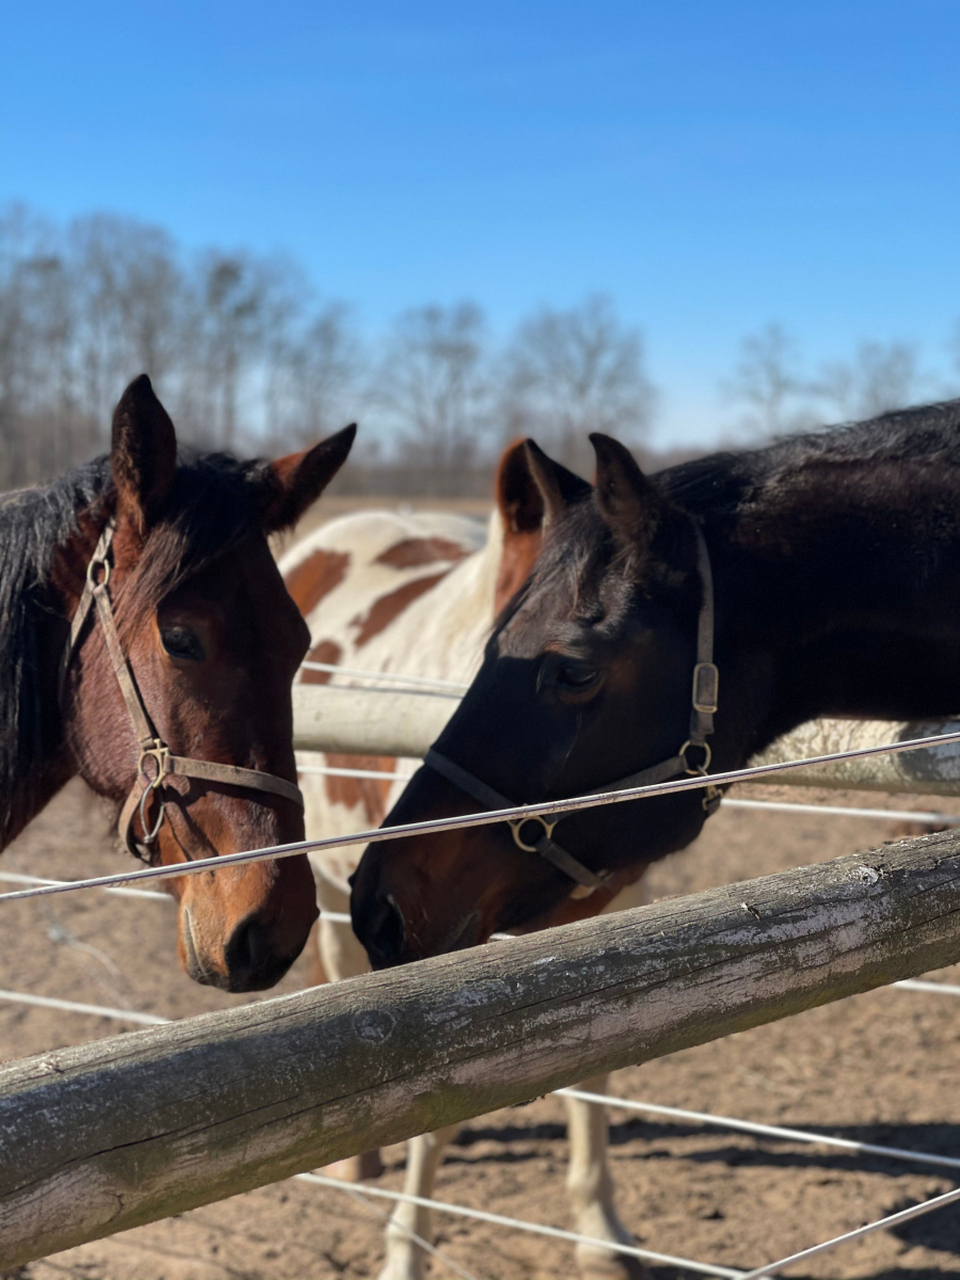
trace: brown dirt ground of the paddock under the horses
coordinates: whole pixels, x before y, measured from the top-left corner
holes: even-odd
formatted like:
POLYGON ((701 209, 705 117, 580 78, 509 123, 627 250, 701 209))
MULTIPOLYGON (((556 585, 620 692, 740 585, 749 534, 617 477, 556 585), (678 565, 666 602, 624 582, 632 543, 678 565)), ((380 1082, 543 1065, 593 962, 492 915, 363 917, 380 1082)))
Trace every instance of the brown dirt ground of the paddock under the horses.
MULTIPOLYGON (((810 792, 753 788, 805 799, 810 792)), ((827 799, 826 794, 822 794, 827 799)), ((923 808, 845 794, 837 803, 923 808)), ((942 803, 933 801, 940 808, 942 803)), ((960 803, 955 804, 960 808, 960 803)), ((704 836, 655 869, 655 896, 686 893, 835 858, 899 836, 893 823, 727 809, 704 836)), ((6 870, 78 877, 123 865, 105 819, 70 786, 3 859, 6 870)), ((5 904, 0 987, 179 1018, 250 997, 197 987, 174 951, 163 902, 86 892, 5 904)), ((946 972, 952 980, 959 975, 946 972)), ((282 991, 305 982, 298 961, 282 991)), ((0 1001, 0 1057, 10 1060, 123 1030, 87 1015, 0 1001)), ((960 1153, 960 1000, 887 989, 617 1073, 612 1092, 835 1134, 960 1153), (954 1119, 954 1112, 957 1119, 954 1119)), ((385 1152, 380 1185, 399 1188, 403 1147, 385 1152)), ((9 1157, 6 1157, 9 1158, 9 1157)), ((612 1115, 612 1166, 621 1215, 652 1249, 749 1268, 947 1190, 924 1167, 758 1140, 698 1125, 612 1115)), ((438 1183, 447 1201, 568 1226, 563 1106, 545 1098, 475 1120, 438 1183)), ((287 1181, 108 1240, 18 1272, 28 1280, 314 1280, 375 1276, 383 1202, 287 1181)), ((543 1236, 439 1219, 439 1247, 484 1280, 572 1276, 571 1247, 543 1236)), ((431 1274, 452 1275, 435 1261, 431 1274)), ((657 1280, 682 1272, 653 1268, 657 1280)), ((960 1210, 877 1233, 794 1276, 922 1280, 960 1275, 960 1210)))

